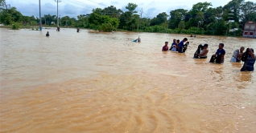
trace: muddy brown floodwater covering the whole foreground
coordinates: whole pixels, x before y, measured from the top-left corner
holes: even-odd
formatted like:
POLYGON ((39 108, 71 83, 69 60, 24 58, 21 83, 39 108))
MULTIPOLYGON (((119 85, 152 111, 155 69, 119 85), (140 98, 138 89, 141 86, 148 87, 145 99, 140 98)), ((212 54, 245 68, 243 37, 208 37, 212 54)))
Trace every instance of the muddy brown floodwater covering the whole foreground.
POLYGON ((47 30, 0 29, 0 132, 256 131, 256 72, 229 62, 256 39, 197 35, 178 54, 164 42, 188 35, 47 30), (192 58, 219 42, 224 64, 192 58))

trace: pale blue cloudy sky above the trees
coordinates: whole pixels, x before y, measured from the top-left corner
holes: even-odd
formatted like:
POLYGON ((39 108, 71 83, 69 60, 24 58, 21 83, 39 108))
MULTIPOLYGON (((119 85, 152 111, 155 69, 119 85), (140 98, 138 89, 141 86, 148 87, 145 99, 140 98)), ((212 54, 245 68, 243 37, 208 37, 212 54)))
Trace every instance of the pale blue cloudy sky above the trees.
MULTIPOLYGON (((157 14, 171 10, 185 9, 190 10, 197 2, 212 2, 213 7, 224 6, 230 0, 61 0, 59 3, 60 17, 70 16, 76 18, 79 14, 89 14, 93 8, 105 8, 105 6, 116 6, 118 9, 126 10, 129 2, 136 3, 138 8, 143 9, 142 17, 153 18, 157 14), (105 5, 105 6, 103 6, 105 5)), ((248 0, 246 0, 248 1, 248 0)), ((256 2, 256 0, 249 0, 256 2)), ((39 0, 6 0, 10 6, 15 6, 23 15, 39 16, 39 0)), ((41 10, 43 14, 57 14, 57 3, 55 0, 41 0, 41 10)))

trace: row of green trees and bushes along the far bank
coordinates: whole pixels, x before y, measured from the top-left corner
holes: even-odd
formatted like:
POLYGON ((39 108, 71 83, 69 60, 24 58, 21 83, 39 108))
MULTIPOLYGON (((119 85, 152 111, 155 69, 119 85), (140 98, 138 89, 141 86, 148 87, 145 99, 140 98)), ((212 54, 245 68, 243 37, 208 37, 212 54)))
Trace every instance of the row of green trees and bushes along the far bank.
MULTIPOLYGON (((91 14, 80 14, 77 18, 62 17, 60 26, 103 31, 131 30, 240 36, 247 21, 256 22, 256 2, 244 0, 232 0, 225 6, 216 8, 213 8, 210 2, 198 2, 191 10, 171 10, 169 14, 159 13, 155 18, 141 18, 136 11, 137 7, 137 4, 128 3, 125 12, 115 6, 96 8, 91 14), (229 32, 233 28, 237 30, 229 32)), ((14 22, 33 25, 39 23, 39 18, 23 16, 15 7, 7 5, 6 0, 0 0, 0 22, 4 25, 11 25, 14 22)), ((51 26, 56 22, 56 15, 46 14, 42 17, 43 25, 51 26)))

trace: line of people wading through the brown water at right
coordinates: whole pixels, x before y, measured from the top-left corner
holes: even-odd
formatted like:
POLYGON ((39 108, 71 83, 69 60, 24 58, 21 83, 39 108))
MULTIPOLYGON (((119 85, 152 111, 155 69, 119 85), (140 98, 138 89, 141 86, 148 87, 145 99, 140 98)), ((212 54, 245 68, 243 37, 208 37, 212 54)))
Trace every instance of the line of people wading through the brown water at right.
MULTIPOLYGON (((188 38, 184 38, 182 41, 179 39, 173 39, 173 42, 171 44, 171 48, 168 47, 168 42, 165 42, 165 45, 163 46, 163 51, 171 50, 171 51, 178 51, 179 53, 185 53, 185 51, 188 48, 188 38)), ((209 53, 208 50, 208 44, 199 45, 193 58, 207 58, 207 54, 209 53)), ((242 46, 240 50, 235 50, 233 52, 233 57, 231 58, 231 62, 244 62, 244 65, 241 69, 241 71, 254 71, 254 63, 256 55, 254 54, 254 49, 247 48, 246 52, 244 52, 245 47, 242 46)), ((219 44, 219 48, 217 49, 217 52, 212 55, 210 62, 215 63, 223 63, 224 62, 224 56, 225 56, 225 50, 224 50, 224 43, 219 44)))

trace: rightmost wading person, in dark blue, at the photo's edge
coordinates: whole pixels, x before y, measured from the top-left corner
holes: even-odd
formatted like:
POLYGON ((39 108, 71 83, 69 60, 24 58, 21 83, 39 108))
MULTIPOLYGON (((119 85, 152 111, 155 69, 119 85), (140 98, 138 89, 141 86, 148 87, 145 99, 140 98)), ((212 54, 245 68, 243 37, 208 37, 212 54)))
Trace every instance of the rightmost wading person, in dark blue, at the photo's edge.
POLYGON ((247 48, 246 52, 242 55, 244 66, 241 71, 254 71, 255 58, 254 49, 247 48))

